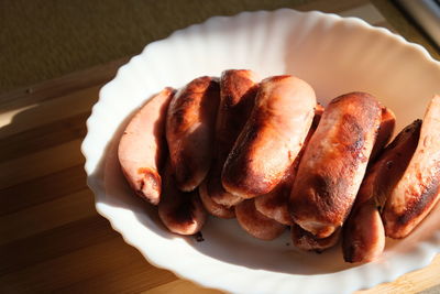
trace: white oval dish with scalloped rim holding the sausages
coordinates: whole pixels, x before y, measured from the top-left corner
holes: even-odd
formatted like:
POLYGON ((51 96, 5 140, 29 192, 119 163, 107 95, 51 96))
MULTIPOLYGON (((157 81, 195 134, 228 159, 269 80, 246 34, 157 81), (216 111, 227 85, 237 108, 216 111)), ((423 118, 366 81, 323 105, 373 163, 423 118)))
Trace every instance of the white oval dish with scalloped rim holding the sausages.
POLYGON ((427 265, 440 251, 437 209, 408 238, 388 240, 376 262, 349 264, 340 248, 299 252, 288 233, 260 241, 235 220, 209 219, 205 241, 177 237, 133 196, 119 170, 116 146, 135 109, 165 86, 201 75, 251 68, 261 77, 294 74, 321 102, 369 91, 397 115, 397 130, 421 118, 440 92, 440 63, 419 45, 359 19, 277 10, 216 17, 154 42, 122 66, 100 92, 82 143, 88 184, 99 214, 153 264, 204 286, 237 293, 349 293, 393 281, 427 265))

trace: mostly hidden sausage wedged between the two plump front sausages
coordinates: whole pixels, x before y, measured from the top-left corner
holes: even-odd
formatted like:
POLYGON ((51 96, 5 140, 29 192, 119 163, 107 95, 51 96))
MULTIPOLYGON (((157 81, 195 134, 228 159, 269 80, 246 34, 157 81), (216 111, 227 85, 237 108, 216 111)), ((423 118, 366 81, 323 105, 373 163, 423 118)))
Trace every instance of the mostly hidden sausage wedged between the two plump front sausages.
POLYGON ((279 182, 279 184, 270 193, 255 198, 256 210, 258 210, 261 214, 265 215, 268 218, 275 219, 280 224, 287 226, 294 224, 290 213, 288 211, 288 200, 290 196, 292 185, 294 184, 296 173, 298 172, 298 165, 302 156, 304 149, 308 144, 311 135, 314 134, 316 128, 318 127, 322 112, 323 112, 323 107, 317 105, 317 109, 315 110, 314 121, 311 123, 307 138, 304 141, 304 146, 299 152, 298 156, 296 157, 294 164, 284 175, 282 182, 279 182))

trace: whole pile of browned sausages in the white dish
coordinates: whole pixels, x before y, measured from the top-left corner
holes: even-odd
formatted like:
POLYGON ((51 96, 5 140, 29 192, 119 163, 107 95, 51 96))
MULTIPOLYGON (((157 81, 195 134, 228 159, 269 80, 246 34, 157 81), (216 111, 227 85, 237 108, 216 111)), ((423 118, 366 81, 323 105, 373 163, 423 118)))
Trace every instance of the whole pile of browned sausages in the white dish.
POLYGON ((174 233, 200 233, 210 214, 237 218, 261 240, 289 227, 297 249, 342 243, 346 262, 370 262, 386 236, 408 236, 440 197, 440 96, 424 122, 385 146, 395 123, 366 92, 324 109, 297 77, 258 81, 229 69, 153 96, 129 122, 118 157, 133 192, 174 233))

